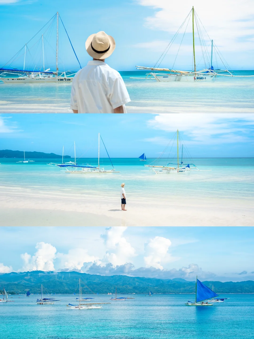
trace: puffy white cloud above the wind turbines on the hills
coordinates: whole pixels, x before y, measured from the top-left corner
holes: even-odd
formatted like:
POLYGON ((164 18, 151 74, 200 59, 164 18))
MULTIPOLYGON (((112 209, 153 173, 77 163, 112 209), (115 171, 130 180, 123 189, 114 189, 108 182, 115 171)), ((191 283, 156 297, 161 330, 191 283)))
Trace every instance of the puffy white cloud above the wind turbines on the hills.
POLYGON ((23 267, 19 271, 55 271, 56 247, 42 241, 38 242, 35 248, 37 252, 33 256, 28 253, 21 254, 23 267))

